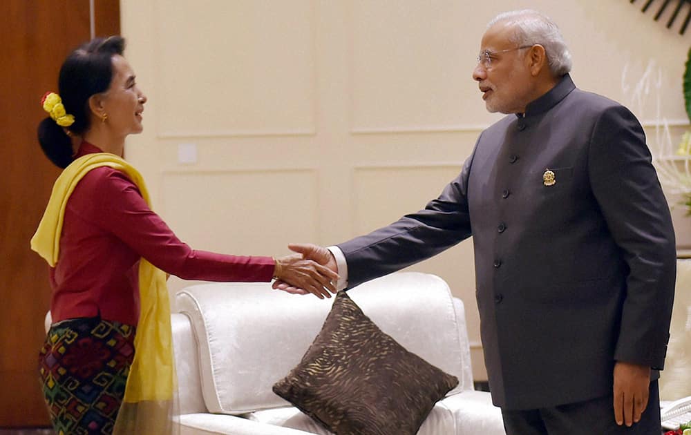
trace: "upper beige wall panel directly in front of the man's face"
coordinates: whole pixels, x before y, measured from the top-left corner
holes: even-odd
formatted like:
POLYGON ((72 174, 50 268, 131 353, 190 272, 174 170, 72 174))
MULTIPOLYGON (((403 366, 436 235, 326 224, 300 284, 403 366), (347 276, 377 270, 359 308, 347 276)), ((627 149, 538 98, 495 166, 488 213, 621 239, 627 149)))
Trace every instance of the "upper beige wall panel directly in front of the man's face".
POLYGON ((479 37, 466 37, 466 26, 479 23, 466 3, 348 5, 352 131, 463 131, 495 119, 470 78, 479 37))

